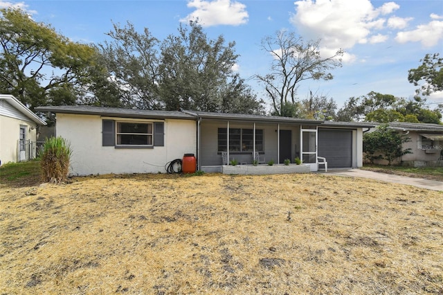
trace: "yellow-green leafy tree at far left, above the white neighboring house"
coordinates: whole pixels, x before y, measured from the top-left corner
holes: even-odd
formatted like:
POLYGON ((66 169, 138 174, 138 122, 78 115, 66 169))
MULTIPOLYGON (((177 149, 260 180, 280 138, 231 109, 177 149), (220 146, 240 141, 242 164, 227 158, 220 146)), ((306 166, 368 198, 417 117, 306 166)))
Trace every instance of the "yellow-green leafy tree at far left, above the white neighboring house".
POLYGON ((93 47, 71 42, 17 9, 0 10, 0 92, 34 109, 73 105, 95 66, 93 47))

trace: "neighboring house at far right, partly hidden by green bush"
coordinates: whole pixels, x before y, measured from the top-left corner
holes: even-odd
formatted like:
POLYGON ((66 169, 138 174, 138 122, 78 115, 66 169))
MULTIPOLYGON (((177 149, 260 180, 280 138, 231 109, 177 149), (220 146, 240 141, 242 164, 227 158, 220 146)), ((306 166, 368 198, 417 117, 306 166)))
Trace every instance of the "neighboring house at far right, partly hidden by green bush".
MULTIPOLYGON (((409 142, 403 144, 403 148, 410 148, 412 154, 405 154, 398 159, 397 164, 413 167, 443 166, 443 125, 404 122, 388 125, 410 138, 409 142)), ((375 163, 386 164, 387 161, 378 160, 375 163)))

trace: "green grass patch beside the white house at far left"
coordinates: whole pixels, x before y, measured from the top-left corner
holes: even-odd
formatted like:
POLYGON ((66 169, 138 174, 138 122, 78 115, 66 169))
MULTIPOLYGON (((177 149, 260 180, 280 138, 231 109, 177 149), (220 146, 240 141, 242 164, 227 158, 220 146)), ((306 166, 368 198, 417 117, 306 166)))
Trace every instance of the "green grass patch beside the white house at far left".
POLYGON ((35 186, 41 182, 40 162, 6 163, 0 166, 0 184, 13 187, 35 186))

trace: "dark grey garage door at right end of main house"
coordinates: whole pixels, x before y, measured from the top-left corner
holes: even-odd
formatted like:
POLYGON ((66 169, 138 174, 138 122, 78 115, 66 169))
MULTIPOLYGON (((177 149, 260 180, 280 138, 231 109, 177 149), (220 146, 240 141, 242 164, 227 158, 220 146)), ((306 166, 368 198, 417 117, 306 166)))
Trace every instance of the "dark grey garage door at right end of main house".
POLYGON ((318 156, 330 168, 352 167, 352 130, 318 128, 318 156))

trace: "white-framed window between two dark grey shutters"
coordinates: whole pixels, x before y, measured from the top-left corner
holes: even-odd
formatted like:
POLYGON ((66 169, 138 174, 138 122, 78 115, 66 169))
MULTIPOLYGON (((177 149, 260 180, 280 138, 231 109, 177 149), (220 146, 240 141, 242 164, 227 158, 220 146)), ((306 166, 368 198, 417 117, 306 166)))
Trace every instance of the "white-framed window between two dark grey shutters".
POLYGON ((117 122, 117 145, 152 145, 152 123, 117 122))

